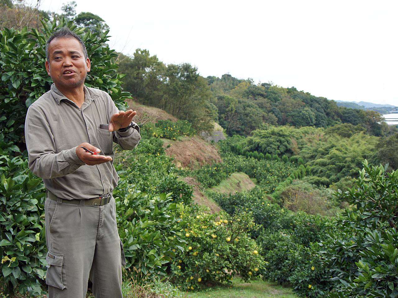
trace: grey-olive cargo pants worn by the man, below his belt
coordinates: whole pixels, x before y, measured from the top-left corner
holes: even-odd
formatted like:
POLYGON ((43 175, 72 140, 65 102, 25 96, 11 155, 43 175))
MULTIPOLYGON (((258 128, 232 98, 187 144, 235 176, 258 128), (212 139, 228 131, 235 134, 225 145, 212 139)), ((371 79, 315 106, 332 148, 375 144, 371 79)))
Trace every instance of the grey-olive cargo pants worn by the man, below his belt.
POLYGON ((103 206, 45 201, 48 298, 85 298, 88 279, 96 298, 122 298, 123 244, 115 199, 103 206))

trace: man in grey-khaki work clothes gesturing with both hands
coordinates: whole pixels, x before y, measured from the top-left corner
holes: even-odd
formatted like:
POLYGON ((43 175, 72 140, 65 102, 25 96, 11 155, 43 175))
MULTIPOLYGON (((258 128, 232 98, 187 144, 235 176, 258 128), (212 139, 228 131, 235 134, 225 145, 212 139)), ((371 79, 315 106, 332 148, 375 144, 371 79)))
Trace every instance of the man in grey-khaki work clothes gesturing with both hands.
POLYGON ((112 195, 119 181, 112 144, 127 150, 137 146, 136 111, 119 111, 106 92, 84 85, 90 59, 67 27, 49 38, 46 55, 53 84, 29 106, 25 138, 29 168, 47 189, 49 298, 85 298, 88 279, 96 298, 123 297, 125 258, 112 195))

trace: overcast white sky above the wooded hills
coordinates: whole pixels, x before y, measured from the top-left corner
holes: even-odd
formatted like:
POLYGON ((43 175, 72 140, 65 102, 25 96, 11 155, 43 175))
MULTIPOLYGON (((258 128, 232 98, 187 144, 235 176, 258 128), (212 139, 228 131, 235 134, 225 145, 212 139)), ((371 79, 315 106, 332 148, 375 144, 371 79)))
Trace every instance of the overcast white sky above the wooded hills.
MULTIPOLYGON (((41 0, 60 13, 62 2, 41 0)), ((204 77, 229 73, 316 96, 398 105, 398 1, 76 0, 110 45, 146 48, 204 77)))

